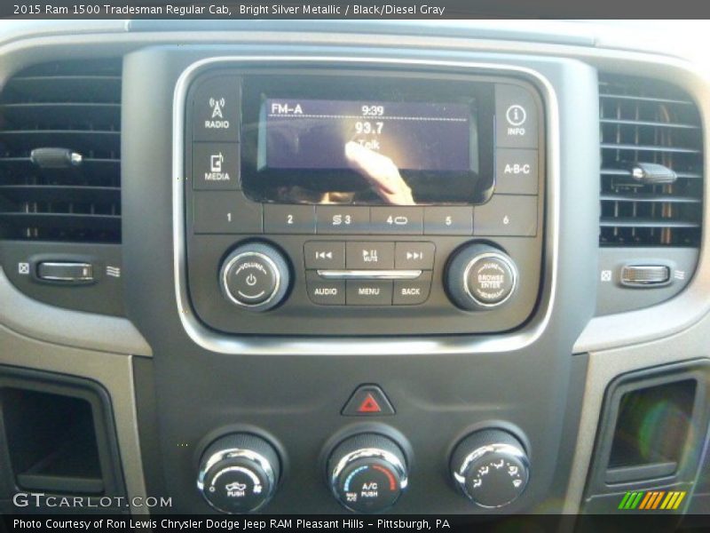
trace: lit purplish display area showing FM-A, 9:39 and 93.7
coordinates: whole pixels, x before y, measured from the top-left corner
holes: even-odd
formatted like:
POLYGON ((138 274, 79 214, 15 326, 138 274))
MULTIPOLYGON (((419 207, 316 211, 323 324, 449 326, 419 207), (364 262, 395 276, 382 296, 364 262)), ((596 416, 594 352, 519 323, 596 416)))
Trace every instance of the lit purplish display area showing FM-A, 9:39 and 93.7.
POLYGON ((465 104, 267 98, 258 167, 364 170, 386 158, 399 171, 469 171, 473 120, 465 104))

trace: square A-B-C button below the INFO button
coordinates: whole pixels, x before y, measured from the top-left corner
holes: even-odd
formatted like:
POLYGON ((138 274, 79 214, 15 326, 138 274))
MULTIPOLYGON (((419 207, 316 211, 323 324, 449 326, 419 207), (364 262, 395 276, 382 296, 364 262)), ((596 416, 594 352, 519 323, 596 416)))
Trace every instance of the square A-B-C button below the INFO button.
POLYGON ((538 151, 498 148, 495 152, 495 192, 538 194, 538 151))

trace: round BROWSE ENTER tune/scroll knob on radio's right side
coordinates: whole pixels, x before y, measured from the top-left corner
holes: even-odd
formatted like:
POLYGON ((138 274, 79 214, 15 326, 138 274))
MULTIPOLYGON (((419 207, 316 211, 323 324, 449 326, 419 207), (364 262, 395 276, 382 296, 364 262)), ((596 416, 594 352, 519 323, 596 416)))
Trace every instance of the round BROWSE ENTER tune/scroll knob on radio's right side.
POLYGON ((455 252, 446 270, 446 290, 454 304, 470 311, 501 306, 515 292, 513 260, 489 244, 470 243, 455 252))

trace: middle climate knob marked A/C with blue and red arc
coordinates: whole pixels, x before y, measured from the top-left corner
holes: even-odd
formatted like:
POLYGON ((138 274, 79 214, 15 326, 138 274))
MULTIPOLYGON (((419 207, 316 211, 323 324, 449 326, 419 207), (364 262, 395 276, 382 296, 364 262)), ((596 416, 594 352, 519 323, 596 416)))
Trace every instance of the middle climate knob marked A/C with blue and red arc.
POLYGON ((327 469, 335 497, 358 513, 389 509, 406 489, 404 453, 380 434, 359 434, 341 442, 327 469))

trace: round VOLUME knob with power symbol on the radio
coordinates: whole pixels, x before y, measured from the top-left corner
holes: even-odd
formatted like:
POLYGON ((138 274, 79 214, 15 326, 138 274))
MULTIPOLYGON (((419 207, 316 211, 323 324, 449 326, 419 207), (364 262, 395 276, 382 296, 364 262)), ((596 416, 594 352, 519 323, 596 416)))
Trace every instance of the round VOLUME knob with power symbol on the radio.
POLYGON ((288 263, 271 244, 242 244, 226 257, 219 280, 225 297, 235 306, 267 311, 286 296, 288 263))

